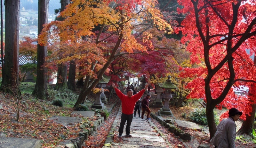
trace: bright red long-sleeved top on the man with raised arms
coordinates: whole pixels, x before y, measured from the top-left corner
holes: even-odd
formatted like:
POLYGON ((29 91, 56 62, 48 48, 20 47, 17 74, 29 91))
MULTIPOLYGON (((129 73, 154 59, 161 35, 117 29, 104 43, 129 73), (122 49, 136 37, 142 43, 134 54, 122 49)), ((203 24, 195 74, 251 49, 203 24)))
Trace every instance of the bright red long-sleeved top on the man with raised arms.
POLYGON ((135 103, 140 99, 140 97, 144 94, 145 89, 140 90, 136 95, 132 95, 129 98, 127 95, 124 95, 119 89, 115 88, 116 95, 122 101, 122 113, 126 115, 133 114, 135 103))

